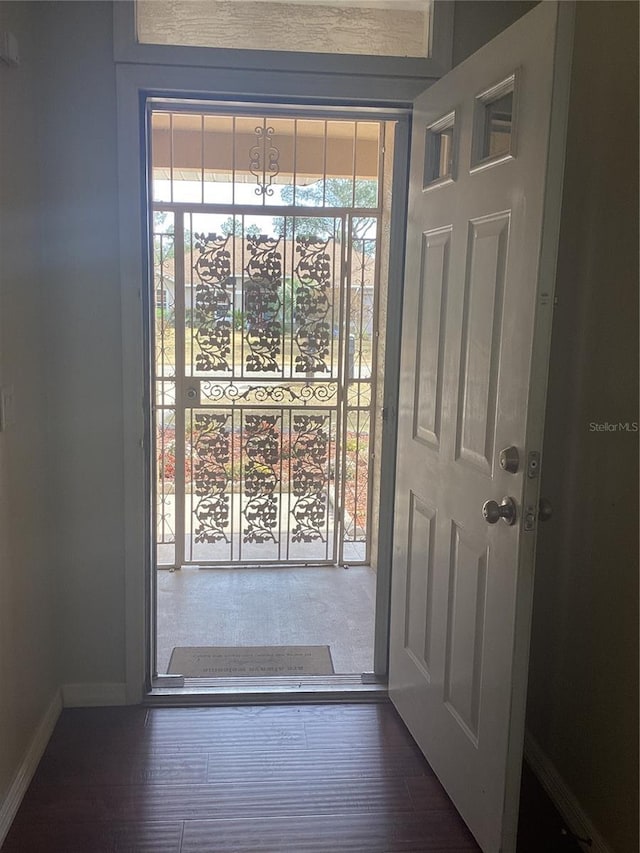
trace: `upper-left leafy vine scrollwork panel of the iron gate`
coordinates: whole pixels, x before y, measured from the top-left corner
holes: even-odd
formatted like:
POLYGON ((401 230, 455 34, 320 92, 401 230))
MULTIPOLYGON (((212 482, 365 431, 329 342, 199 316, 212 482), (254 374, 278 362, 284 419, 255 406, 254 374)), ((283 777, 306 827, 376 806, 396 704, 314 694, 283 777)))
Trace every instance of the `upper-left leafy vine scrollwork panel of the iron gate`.
POLYGON ((194 270, 196 283, 196 353, 198 370, 231 370, 231 329, 233 279, 229 237, 196 234, 195 248, 200 253, 194 270))

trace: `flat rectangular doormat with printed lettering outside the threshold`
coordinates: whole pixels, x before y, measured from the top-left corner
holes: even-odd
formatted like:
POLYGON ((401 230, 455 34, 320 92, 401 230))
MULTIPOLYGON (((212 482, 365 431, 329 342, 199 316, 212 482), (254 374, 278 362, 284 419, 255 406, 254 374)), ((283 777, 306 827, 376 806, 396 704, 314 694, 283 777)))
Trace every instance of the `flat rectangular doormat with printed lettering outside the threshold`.
POLYGON ((168 673, 185 678, 333 675, 329 646, 176 646, 168 673))

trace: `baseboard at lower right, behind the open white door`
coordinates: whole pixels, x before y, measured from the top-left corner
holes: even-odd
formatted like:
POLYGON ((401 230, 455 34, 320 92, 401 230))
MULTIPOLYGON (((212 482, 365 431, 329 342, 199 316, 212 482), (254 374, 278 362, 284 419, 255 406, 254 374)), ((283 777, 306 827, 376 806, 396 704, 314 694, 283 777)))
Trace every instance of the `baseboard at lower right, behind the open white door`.
POLYGON ((585 850, 591 853, 612 853, 575 794, 530 732, 524 738, 524 757, 571 832, 581 838, 591 839, 591 847, 585 847, 585 850))

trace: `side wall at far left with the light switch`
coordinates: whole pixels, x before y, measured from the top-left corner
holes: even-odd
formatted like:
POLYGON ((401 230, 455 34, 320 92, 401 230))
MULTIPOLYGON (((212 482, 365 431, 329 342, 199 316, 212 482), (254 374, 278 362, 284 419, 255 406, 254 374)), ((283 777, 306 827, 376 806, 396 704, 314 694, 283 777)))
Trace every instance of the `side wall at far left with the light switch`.
POLYGON ((34 12, 0 4, 0 30, 22 63, 0 64, 0 385, 13 387, 13 422, 0 433, 0 807, 59 684, 51 526, 51 445, 39 248, 34 12))

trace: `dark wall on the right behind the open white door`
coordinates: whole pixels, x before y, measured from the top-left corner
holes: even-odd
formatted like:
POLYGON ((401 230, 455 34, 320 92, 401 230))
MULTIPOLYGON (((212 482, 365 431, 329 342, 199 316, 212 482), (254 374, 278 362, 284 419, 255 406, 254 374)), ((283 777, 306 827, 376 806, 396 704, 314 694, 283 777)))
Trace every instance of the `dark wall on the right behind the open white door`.
POLYGON ((578 3, 528 727, 638 850, 638 6, 578 3))

